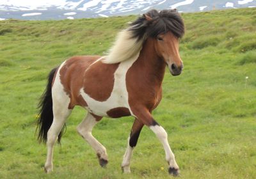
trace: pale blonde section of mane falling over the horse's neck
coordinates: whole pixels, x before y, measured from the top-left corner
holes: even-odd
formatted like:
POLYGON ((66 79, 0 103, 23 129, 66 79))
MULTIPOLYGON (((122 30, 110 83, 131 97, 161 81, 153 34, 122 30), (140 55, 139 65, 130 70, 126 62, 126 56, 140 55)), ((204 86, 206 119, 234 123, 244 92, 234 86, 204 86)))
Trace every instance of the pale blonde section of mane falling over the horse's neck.
POLYGON ((131 59, 140 53, 143 41, 143 38, 138 41, 138 38, 134 38, 129 29, 125 29, 118 33, 113 47, 109 49, 106 58, 102 61, 104 63, 119 63, 131 59))

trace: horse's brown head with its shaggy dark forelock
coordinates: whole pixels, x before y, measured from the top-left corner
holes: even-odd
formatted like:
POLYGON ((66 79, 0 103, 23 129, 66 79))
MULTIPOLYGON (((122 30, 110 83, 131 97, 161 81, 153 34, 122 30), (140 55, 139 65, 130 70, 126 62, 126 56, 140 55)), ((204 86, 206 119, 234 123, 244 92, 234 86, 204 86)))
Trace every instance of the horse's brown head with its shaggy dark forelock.
POLYGON ((150 10, 131 24, 133 36, 140 39, 153 38, 154 49, 168 65, 172 75, 182 72, 179 55, 179 38, 184 35, 184 22, 177 10, 150 10))

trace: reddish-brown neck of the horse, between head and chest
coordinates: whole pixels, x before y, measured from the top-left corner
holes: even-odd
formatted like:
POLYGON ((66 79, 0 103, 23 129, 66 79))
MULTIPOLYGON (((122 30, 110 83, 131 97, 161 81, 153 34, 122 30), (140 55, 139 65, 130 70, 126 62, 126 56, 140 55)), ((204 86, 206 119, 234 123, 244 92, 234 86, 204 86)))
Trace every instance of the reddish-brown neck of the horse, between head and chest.
POLYGON ((140 66, 140 69, 138 69, 138 75, 144 75, 150 84, 154 84, 158 87, 161 86, 166 64, 163 59, 157 56, 153 39, 148 38, 144 43, 140 56, 135 63, 137 63, 137 66, 140 66))

